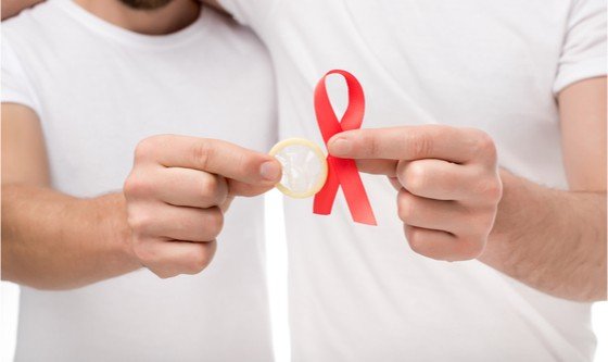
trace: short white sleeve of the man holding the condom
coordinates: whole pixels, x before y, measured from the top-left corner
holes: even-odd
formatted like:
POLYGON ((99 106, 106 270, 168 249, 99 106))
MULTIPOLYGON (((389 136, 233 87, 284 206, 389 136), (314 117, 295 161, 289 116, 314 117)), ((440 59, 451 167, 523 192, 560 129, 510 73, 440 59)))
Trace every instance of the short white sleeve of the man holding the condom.
POLYGON ((2 103, 20 103, 33 109, 40 114, 36 95, 33 91, 31 83, 23 70, 22 63, 9 45, 7 39, 2 39, 2 103))

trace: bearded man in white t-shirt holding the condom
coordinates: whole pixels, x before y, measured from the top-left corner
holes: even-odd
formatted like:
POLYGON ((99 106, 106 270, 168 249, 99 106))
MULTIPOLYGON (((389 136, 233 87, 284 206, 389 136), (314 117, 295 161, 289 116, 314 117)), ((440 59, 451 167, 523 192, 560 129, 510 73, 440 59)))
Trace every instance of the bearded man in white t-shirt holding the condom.
POLYGON ((190 0, 55 0, 2 24, 17 361, 271 360, 263 201, 232 201, 280 174, 242 148, 275 140, 268 64, 190 0))

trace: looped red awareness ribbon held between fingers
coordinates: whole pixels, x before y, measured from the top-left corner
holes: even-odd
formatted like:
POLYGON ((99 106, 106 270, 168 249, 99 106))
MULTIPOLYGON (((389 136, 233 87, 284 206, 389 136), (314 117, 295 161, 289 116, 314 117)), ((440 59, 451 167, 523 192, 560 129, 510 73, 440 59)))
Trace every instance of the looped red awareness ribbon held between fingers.
MULTIPOLYGON (((357 78, 346 71, 333 70, 327 72, 315 88, 315 113, 326 147, 333 135, 343 130, 360 128, 365 113, 365 96, 357 78), (342 75, 349 87, 349 108, 340 122, 329 102, 329 96, 325 87, 325 79, 330 74, 342 75)), ((315 195, 313 212, 319 215, 329 215, 338 194, 338 187, 342 186, 353 220, 362 224, 377 225, 355 161, 328 154, 327 164, 327 180, 321 190, 315 195)))

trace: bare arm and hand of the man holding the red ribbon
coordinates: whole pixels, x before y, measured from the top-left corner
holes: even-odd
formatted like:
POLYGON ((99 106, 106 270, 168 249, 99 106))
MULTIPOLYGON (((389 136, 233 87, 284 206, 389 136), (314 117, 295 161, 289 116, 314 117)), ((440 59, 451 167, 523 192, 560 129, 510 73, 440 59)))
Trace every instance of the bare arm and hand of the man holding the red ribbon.
POLYGON ((389 176, 416 252, 477 258, 556 297, 606 300, 606 78, 573 84, 558 102, 568 190, 498 168, 493 140, 470 128, 358 129, 329 151, 389 176))

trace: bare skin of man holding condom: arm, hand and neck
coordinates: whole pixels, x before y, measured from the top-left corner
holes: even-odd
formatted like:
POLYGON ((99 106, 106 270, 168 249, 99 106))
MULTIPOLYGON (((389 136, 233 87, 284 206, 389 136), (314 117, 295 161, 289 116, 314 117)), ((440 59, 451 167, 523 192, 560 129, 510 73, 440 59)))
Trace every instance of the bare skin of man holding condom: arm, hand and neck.
MULTIPOLYGON (((102 2, 122 14, 112 20, 117 25, 130 20, 132 9, 102 2)), ((192 3, 175 0, 148 11, 144 32, 187 26, 177 14, 191 12, 192 3), (175 23, 166 22, 170 16, 175 23)), ((2 279, 40 289, 80 287, 142 265, 163 278, 199 273, 213 259, 230 201, 263 194, 280 179, 280 164, 267 154, 160 135, 137 146, 123 191, 79 199, 52 189, 33 110, 2 103, 1 124, 2 279)))

